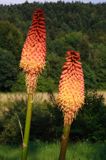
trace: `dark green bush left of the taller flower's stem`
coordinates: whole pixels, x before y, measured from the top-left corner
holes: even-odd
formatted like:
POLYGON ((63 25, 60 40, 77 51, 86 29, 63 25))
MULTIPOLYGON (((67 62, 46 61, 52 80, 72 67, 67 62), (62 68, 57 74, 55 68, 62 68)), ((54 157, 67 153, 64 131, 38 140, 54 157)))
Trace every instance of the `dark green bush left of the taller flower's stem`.
POLYGON ((3 144, 9 143, 20 143, 22 142, 21 130, 20 130, 20 120, 24 124, 25 120, 25 106, 26 102, 22 100, 17 101, 14 106, 11 104, 8 108, 9 110, 3 111, 3 116, 0 118, 1 121, 1 135, 0 141, 3 144))

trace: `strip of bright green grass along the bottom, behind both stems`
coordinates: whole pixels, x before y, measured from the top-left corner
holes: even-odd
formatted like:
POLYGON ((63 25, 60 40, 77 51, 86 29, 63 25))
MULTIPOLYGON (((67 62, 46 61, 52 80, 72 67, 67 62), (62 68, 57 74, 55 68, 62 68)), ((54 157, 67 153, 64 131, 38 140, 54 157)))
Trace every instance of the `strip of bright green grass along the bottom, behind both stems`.
MULTIPOLYGON (((30 145, 28 160, 58 160, 59 143, 30 145)), ((21 149, 0 145, 0 160, 20 160, 21 149)), ((66 160, 106 160, 106 144, 79 142, 69 144, 66 160)))

